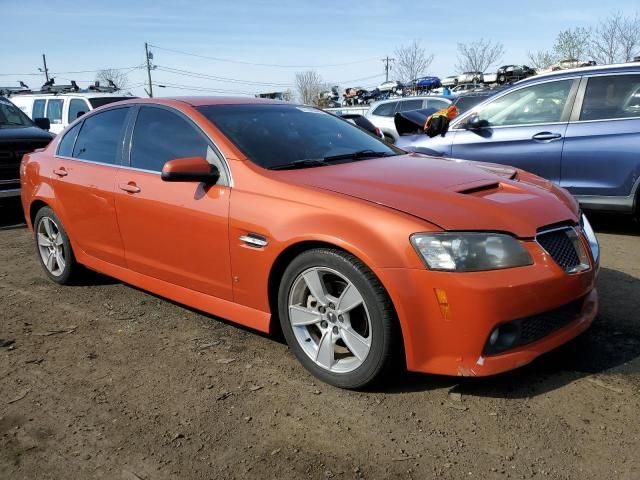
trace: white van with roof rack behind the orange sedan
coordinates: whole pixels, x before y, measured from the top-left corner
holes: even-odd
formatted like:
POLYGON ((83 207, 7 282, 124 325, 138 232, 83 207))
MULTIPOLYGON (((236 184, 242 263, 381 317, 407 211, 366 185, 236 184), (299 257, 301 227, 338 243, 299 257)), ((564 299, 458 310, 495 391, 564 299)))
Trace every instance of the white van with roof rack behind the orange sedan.
POLYGON ((50 132, 58 134, 78 116, 94 108, 134 98, 124 92, 12 92, 11 101, 31 120, 48 118, 50 132))

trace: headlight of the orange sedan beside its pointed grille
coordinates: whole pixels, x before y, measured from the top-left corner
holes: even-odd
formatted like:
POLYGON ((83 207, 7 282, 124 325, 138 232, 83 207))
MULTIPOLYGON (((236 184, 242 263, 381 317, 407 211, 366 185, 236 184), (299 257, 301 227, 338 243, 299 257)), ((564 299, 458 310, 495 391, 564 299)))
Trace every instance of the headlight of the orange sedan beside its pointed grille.
POLYGON ((479 272, 533 264, 517 239, 500 233, 416 233, 411 243, 430 270, 479 272))

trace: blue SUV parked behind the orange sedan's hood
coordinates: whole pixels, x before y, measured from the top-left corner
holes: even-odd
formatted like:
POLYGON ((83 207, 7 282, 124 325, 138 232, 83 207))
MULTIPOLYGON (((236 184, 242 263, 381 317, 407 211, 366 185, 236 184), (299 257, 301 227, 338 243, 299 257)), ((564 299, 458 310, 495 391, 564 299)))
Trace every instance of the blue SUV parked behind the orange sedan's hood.
POLYGON ((640 63, 527 78, 454 119, 444 137, 400 137, 397 146, 513 165, 586 209, 638 215, 640 63))

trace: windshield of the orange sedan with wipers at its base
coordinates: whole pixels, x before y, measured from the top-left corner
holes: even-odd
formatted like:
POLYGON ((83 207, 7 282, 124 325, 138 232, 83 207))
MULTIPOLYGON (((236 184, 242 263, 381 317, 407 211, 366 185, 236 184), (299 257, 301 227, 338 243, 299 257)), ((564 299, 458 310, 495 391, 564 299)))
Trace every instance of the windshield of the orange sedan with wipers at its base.
POLYGON ((342 119, 311 107, 207 105, 198 110, 263 168, 290 164, 318 166, 322 161, 338 158, 354 161, 404 153, 342 119))

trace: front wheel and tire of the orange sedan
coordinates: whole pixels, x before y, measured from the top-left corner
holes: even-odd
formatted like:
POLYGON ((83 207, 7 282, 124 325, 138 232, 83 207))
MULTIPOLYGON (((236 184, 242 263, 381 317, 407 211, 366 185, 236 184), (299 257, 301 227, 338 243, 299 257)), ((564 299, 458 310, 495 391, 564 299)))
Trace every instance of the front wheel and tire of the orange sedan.
POLYGON ((401 351, 387 292, 371 270, 341 250, 319 248, 296 257, 282 277, 278 310, 300 363, 336 387, 371 385, 394 367, 401 351))

